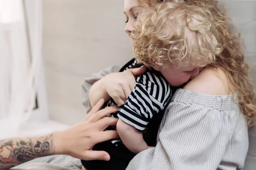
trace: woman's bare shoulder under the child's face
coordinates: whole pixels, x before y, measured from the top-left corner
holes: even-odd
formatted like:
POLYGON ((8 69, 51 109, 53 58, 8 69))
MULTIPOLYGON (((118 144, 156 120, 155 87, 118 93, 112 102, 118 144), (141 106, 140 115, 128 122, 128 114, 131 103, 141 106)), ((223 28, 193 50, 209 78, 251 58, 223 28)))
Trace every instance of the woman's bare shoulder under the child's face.
POLYGON ((206 67, 197 77, 187 83, 184 89, 210 95, 229 95, 228 85, 223 70, 206 67))

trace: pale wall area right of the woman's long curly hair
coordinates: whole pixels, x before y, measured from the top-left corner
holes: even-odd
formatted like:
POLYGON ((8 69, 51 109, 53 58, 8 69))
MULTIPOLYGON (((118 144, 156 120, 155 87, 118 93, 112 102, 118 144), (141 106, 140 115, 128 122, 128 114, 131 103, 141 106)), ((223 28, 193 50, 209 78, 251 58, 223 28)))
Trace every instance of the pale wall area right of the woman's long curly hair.
POLYGON ((241 33, 245 44, 245 57, 252 69, 256 88, 256 0, 219 0, 224 2, 227 16, 232 19, 234 30, 241 33))

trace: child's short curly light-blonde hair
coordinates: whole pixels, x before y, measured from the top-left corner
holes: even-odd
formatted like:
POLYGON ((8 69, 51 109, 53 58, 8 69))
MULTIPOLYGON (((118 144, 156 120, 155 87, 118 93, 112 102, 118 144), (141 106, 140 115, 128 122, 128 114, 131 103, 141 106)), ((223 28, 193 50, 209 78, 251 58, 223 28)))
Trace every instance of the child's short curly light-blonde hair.
POLYGON ((166 61, 188 66, 207 65, 221 51, 210 11, 189 6, 181 0, 160 3, 139 17, 133 31, 136 59, 148 67, 162 67, 166 61))

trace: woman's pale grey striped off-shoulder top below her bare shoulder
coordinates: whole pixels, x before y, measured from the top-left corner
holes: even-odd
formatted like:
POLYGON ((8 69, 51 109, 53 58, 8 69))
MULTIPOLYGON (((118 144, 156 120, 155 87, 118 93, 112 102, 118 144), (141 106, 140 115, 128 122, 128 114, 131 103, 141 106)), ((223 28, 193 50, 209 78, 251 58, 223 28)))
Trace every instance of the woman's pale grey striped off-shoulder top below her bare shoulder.
POLYGON ((160 125, 157 146, 137 154, 127 170, 240 170, 247 149, 246 119, 232 95, 178 89, 160 125))

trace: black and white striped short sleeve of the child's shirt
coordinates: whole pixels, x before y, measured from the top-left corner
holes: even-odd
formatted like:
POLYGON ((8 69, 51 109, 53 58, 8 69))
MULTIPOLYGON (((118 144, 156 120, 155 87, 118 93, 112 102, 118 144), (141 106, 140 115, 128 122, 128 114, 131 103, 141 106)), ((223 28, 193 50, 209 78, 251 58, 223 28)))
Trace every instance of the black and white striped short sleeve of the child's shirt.
POLYGON ((117 116, 122 121, 143 131, 150 119, 163 111, 169 103, 172 89, 163 77, 145 72, 136 78, 137 83, 127 102, 120 106, 117 116))

